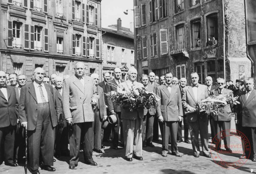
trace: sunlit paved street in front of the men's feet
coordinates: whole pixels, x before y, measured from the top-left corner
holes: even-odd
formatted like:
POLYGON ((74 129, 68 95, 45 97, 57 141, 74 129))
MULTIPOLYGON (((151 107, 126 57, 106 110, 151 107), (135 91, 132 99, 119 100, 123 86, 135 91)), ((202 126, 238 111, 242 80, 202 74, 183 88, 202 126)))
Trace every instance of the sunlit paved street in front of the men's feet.
MULTIPOLYGON (((234 122, 233 122, 234 123, 234 122)), ((232 125, 234 127, 234 125, 232 125)), ((209 140, 211 142, 211 140, 209 140)), ((239 160, 241 155, 240 143, 238 137, 231 136, 231 149, 235 152, 234 154, 217 154, 215 151, 212 152, 212 156, 215 161, 219 162, 222 159, 226 162, 235 162, 239 160), (237 152, 237 153, 236 153, 237 152), (219 156, 218 156, 219 155, 219 156)), ((161 140, 154 143, 155 148, 146 147, 143 148, 143 161, 133 159, 132 162, 125 161, 124 149, 114 150, 110 148, 111 144, 106 144, 103 154, 93 154, 94 161, 98 163, 98 166, 90 166, 83 163, 83 155, 80 152, 80 161, 78 166, 74 170, 70 170, 68 167, 69 157, 61 157, 56 159, 54 162, 55 172, 48 172, 40 170, 41 174, 80 174, 80 173, 109 173, 109 174, 164 174, 164 173, 177 173, 177 174, 244 174, 244 173, 256 173, 256 162, 248 160, 244 165, 243 162, 239 161, 236 165, 240 166, 238 169, 234 167, 221 167, 217 165, 212 158, 206 158, 200 156, 199 158, 193 157, 191 144, 184 142, 178 143, 179 152, 183 154, 181 158, 172 156, 170 153, 168 157, 161 156, 161 140)), ((222 142, 223 144, 223 142, 222 142)), ((212 147, 209 144, 209 147, 212 147)), ((170 145, 169 145, 170 149, 170 145)), ((201 154, 202 155, 202 154, 201 154)), ((22 165, 22 164, 21 164, 22 165)), ((0 173, 3 174, 22 174, 24 173, 23 166, 9 167, 4 164, 0 165, 0 173)))

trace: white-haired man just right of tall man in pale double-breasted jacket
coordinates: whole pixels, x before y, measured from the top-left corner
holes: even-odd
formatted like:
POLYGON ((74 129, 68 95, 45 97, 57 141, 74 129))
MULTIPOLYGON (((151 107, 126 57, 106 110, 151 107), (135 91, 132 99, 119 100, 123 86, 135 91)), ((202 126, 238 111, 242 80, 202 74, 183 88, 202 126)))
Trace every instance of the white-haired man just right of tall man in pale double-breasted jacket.
POLYGON ((102 87, 98 85, 99 74, 92 74, 91 78, 94 79, 94 84, 96 86, 96 92, 99 95, 99 99, 96 101, 94 106, 94 122, 92 123, 92 129, 94 130, 94 148, 93 151, 97 153, 102 153, 102 121, 107 119, 106 104, 104 101, 104 93, 102 87))

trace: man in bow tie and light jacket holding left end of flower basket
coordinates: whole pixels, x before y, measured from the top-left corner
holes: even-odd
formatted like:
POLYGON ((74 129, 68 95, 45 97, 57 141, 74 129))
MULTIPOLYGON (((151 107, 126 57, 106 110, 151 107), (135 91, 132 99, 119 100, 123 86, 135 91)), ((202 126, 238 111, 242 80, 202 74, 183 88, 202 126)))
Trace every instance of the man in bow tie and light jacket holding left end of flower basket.
POLYGON ((192 148, 194 157, 199 157, 200 148, 198 143, 198 136, 202 141, 203 156, 211 158, 208 150, 208 118, 204 112, 197 112, 196 106, 201 101, 206 99, 208 95, 207 86, 199 84, 199 76, 197 72, 190 74, 192 81, 191 86, 186 86, 182 89, 182 105, 189 121, 189 130, 192 141, 192 148))

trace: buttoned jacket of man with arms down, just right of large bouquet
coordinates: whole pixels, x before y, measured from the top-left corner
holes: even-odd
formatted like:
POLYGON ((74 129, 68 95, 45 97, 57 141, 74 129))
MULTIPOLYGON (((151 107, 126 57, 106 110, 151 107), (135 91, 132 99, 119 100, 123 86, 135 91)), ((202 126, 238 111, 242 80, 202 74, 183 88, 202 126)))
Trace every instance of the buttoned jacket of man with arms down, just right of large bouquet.
POLYGON ((162 115, 164 121, 178 121, 178 117, 183 116, 179 87, 173 85, 171 88, 170 93, 165 84, 157 87, 157 95, 161 100, 158 101, 156 115, 162 115))

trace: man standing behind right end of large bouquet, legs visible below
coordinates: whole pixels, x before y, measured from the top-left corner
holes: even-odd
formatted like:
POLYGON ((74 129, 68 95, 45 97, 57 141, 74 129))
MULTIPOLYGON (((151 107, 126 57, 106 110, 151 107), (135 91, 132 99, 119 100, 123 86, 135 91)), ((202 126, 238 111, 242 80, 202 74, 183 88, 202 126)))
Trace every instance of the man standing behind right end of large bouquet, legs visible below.
MULTIPOLYGON (((144 88, 148 92, 155 91, 154 86, 148 83, 148 75, 143 74, 140 77, 141 83, 144 85, 144 88)), ((150 146, 154 147, 152 144, 153 139, 153 123, 154 123, 155 109, 153 107, 144 108, 144 118, 142 125, 142 141, 143 147, 150 146)))

